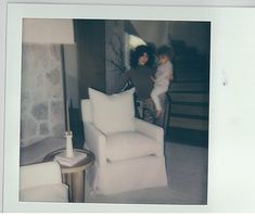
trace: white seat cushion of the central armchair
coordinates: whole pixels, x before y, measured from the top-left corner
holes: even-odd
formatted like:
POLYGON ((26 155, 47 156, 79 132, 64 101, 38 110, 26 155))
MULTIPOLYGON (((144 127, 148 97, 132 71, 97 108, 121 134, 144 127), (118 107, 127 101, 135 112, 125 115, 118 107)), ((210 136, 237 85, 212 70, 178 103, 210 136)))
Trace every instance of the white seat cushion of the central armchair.
POLYGON ((111 162, 161 155, 162 147, 156 140, 140 132, 118 132, 106 137, 106 158, 111 162))

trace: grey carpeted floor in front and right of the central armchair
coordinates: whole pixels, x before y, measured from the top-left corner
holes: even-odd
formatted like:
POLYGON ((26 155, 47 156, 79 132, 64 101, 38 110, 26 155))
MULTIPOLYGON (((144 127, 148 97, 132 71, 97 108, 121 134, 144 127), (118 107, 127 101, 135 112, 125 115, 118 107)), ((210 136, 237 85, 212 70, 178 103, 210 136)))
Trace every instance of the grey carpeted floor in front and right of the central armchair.
POLYGON ((87 203, 206 204, 208 149, 166 142, 169 187, 113 195, 88 194, 87 203))

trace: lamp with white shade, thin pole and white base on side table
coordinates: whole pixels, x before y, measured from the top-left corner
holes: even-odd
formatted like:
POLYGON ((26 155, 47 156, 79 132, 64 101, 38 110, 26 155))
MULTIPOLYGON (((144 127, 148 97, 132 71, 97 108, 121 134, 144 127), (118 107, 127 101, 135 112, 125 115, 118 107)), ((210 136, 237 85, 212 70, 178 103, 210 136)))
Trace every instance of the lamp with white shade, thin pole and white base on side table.
POLYGON ((73 20, 65 18, 24 18, 23 41, 29 43, 60 45, 62 79, 63 79, 63 102, 65 113, 65 138, 66 157, 73 157, 73 134, 69 127, 68 100, 66 97, 65 58, 64 45, 73 45, 74 26, 73 20))

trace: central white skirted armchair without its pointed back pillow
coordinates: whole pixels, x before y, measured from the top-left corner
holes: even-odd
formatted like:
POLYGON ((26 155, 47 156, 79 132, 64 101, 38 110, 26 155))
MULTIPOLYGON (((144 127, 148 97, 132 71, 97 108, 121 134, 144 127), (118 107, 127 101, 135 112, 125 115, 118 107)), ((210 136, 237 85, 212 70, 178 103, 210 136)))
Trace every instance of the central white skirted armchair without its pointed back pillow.
POLYGON ((135 131, 105 135, 93 124, 90 100, 81 100, 81 113, 85 148, 95 155, 97 192, 167 186, 163 128, 136 118, 135 131))

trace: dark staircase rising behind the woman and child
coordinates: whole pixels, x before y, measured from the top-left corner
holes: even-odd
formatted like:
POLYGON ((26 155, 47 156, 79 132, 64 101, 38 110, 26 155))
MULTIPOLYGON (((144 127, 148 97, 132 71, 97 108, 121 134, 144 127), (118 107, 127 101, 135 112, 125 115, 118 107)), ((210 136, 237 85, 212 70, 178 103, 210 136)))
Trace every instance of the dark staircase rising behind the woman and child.
POLYGON ((188 144, 208 143, 209 60, 183 41, 173 42, 174 72, 169 139, 188 144))

